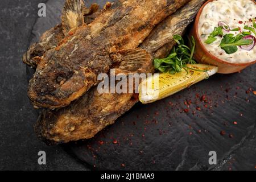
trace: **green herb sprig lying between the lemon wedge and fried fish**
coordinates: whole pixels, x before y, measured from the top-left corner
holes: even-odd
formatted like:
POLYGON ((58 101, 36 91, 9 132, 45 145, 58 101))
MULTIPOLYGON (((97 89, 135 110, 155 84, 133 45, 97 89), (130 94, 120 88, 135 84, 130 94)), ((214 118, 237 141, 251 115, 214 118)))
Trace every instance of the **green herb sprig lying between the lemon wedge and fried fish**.
POLYGON ((174 35, 174 40, 177 46, 172 48, 170 55, 164 59, 154 60, 155 69, 160 72, 175 74, 181 72, 182 69, 187 71, 187 64, 196 64, 193 59, 196 46, 193 36, 191 40, 189 39, 191 48, 184 44, 184 40, 180 35, 174 35))

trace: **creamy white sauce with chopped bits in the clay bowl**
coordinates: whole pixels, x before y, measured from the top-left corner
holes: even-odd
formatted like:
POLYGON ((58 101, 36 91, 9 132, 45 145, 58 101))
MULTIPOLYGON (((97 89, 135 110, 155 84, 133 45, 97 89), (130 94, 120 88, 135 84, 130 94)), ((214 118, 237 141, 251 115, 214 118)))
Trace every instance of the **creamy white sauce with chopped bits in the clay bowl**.
MULTIPOLYGON (((205 48, 221 60, 229 63, 249 63, 256 60, 256 46, 250 51, 246 51, 238 47, 238 51, 232 54, 227 54, 221 49, 221 37, 216 36, 217 40, 212 44, 204 43, 214 27, 218 27, 218 22, 223 21, 230 26, 230 29, 237 27, 244 30, 244 26, 253 27, 253 22, 250 19, 256 17, 256 5, 252 0, 216 0, 209 2, 203 9, 199 19, 199 36, 205 48), (242 23, 241 23, 242 22, 242 23)), ((240 31, 225 31, 225 34, 240 34, 240 31)), ((251 32, 251 35, 256 36, 251 32)))

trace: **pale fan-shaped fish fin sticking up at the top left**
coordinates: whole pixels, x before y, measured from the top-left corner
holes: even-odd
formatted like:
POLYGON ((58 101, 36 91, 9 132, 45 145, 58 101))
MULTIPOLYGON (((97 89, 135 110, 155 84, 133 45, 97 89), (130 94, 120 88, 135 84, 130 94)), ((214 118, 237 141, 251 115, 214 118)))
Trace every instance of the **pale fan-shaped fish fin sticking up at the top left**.
POLYGON ((80 27, 84 24, 85 9, 83 0, 67 0, 65 2, 61 15, 61 23, 65 35, 68 35, 68 32, 73 28, 80 27))

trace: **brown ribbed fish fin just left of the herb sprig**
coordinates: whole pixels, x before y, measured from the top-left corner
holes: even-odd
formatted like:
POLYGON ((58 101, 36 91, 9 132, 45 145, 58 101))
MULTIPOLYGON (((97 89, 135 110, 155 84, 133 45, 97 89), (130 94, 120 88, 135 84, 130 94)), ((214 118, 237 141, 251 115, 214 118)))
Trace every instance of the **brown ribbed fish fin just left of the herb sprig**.
POLYGON ((152 67, 150 53, 141 48, 124 49, 112 55, 115 74, 146 73, 152 67))

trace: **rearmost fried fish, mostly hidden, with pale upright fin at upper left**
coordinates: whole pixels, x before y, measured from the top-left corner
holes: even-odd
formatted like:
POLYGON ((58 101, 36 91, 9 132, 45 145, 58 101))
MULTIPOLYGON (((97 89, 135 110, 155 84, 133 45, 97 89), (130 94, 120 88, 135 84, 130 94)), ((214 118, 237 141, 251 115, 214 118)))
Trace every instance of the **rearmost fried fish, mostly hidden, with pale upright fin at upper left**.
POLYGON ((49 49, 57 47, 65 36, 69 36, 68 32, 72 28, 81 26, 81 21, 84 21, 85 24, 91 23, 100 12, 98 11, 98 7, 99 6, 94 3, 87 9, 83 1, 67 0, 62 11, 61 24, 57 24, 57 26, 44 32, 40 37, 39 42, 32 44, 28 48, 28 51, 23 55, 23 63, 30 67, 36 67, 39 64, 39 61, 41 61, 44 53, 49 49), (73 7, 72 5, 74 2, 80 3, 81 5, 75 5, 75 7, 73 7), (71 15, 77 16, 77 19, 72 19, 72 17, 70 17, 71 15))

